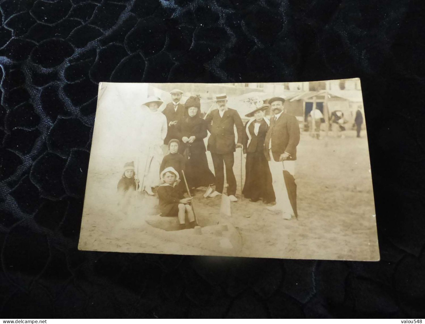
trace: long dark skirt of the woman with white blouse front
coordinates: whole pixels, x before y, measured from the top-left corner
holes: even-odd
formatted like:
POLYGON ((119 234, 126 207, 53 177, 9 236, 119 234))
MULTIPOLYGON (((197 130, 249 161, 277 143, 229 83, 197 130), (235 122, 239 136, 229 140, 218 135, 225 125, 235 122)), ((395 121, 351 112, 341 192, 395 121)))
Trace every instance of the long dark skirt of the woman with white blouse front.
POLYGON ((246 153, 245 166, 246 177, 242 191, 244 197, 252 200, 263 198, 264 202, 276 201, 269 161, 267 161, 263 151, 246 153))

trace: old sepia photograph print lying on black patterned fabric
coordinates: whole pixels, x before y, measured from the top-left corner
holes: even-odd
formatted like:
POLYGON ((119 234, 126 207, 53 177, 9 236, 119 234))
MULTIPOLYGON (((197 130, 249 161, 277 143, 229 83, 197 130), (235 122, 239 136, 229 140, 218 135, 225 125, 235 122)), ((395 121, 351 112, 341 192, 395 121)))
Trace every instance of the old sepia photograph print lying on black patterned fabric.
POLYGON ((377 261, 360 79, 99 84, 79 249, 377 261))

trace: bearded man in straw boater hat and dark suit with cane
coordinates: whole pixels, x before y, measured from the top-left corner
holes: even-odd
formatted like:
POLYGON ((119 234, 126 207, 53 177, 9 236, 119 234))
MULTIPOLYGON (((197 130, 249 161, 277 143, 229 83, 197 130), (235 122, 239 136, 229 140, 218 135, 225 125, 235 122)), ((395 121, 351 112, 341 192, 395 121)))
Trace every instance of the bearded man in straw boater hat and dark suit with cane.
POLYGON ((226 167, 226 179, 229 186, 227 187, 227 195, 230 201, 237 201, 236 178, 233 173, 233 164, 235 163, 236 148, 242 148, 244 124, 241 116, 234 109, 227 107, 227 96, 220 94, 215 97, 218 109, 212 110, 207 115, 207 127, 210 132, 208 138, 208 151, 211 152, 212 163, 215 173, 215 191, 210 197, 215 197, 223 193, 224 187, 224 166, 226 167), (237 144, 235 144, 235 130, 238 134, 237 144), (223 166, 224 163, 224 166, 223 166))

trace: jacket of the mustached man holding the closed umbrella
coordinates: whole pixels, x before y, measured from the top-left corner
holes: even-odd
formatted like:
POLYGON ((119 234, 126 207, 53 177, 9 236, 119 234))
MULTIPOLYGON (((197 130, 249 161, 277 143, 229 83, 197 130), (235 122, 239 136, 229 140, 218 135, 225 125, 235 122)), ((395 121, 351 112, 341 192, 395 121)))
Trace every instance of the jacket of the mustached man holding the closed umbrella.
POLYGON ((270 140, 272 141, 272 155, 275 161, 279 161, 280 155, 284 152, 291 155, 288 160, 296 160, 297 145, 300 142, 300 127, 297 118, 282 113, 277 121, 275 116, 270 119, 270 127, 264 141, 264 154, 268 161, 270 161, 270 140))

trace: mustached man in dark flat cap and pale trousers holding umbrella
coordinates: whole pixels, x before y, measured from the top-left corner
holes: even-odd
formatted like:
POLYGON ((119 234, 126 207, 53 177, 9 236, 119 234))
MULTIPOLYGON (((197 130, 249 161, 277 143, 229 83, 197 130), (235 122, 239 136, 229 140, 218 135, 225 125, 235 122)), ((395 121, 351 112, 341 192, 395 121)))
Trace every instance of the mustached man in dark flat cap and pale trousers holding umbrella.
POLYGON ((264 141, 264 154, 272 173, 276 205, 267 207, 270 211, 281 212, 284 219, 297 217, 297 185, 295 184, 295 160, 300 142, 300 127, 295 116, 285 113, 285 99, 269 99, 274 116, 264 141))

